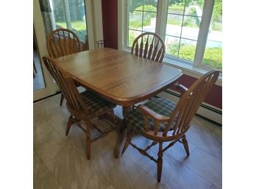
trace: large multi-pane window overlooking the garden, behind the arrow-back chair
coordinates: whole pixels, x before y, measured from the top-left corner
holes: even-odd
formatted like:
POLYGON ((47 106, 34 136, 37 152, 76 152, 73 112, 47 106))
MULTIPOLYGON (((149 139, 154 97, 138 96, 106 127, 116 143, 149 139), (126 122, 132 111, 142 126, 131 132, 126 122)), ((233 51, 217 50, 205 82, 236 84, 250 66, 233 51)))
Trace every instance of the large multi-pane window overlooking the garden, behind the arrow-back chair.
POLYGON ((222 0, 129 0, 124 8, 124 49, 142 32, 156 32, 169 62, 222 69, 222 0))

